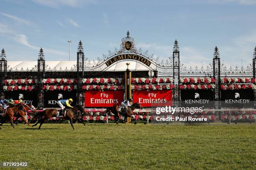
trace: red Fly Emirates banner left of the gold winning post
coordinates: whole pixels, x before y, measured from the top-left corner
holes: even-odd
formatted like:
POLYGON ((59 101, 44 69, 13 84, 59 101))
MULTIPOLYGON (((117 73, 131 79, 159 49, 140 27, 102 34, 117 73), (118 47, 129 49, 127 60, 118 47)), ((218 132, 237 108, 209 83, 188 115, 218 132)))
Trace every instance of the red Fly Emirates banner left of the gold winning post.
POLYGON ((85 91, 84 105, 85 107, 113 107, 120 105, 123 101, 123 91, 85 91))

